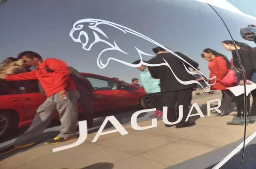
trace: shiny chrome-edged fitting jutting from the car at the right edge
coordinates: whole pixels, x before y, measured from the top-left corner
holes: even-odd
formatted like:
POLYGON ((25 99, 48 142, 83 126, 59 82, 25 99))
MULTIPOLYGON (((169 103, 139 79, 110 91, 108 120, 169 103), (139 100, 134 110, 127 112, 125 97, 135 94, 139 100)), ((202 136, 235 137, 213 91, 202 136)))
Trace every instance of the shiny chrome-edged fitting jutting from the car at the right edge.
POLYGON ((247 27, 241 27, 240 35, 245 40, 253 41, 256 43, 256 26, 247 25, 247 27))

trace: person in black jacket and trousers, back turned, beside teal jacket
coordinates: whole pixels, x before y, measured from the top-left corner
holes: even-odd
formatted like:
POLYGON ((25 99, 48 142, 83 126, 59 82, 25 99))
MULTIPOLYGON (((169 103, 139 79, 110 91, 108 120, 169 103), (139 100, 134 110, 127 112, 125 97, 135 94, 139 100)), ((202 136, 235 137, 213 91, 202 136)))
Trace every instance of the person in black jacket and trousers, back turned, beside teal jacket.
MULTIPOLYGON (((194 68, 198 68, 198 63, 189 59, 180 52, 175 52, 175 54, 186 60, 186 62, 183 62, 177 56, 169 53, 169 51, 166 51, 161 47, 153 48, 152 51, 154 51, 157 56, 150 59, 148 61, 149 64, 165 63, 164 60, 166 60, 175 73, 172 73, 172 70, 166 65, 148 67, 151 76, 155 79, 160 79, 160 88, 161 92, 163 93, 163 105, 168 107, 168 121, 174 122, 177 120, 175 115, 175 113, 178 112, 176 111, 177 104, 177 108, 179 105, 183 105, 183 118, 180 123, 176 124, 176 128, 195 125, 195 123, 189 123, 185 120, 189 113, 189 105, 192 100, 192 91, 195 90, 196 84, 183 85, 177 81, 175 76, 185 82, 195 80, 195 78, 187 72, 186 68, 191 66, 186 62, 190 63, 194 68)), ((166 125, 166 127, 170 127, 170 125, 166 125)))

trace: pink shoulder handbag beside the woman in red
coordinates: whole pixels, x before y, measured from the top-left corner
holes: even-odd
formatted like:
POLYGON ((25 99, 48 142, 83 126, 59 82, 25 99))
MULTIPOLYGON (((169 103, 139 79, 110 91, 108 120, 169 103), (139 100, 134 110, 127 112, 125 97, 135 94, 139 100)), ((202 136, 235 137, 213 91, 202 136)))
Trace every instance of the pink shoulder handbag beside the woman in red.
POLYGON ((233 87, 237 85, 236 72, 233 69, 233 58, 231 61, 231 69, 227 70, 227 74, 221 79, 221 84, 228 87, 233 87))

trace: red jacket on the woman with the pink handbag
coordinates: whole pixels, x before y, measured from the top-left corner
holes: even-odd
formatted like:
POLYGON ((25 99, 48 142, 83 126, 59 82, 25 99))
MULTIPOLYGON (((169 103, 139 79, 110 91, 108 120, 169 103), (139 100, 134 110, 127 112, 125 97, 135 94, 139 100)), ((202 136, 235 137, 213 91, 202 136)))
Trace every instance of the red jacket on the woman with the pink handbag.
MULTIPOLYGON (((227 90, 227 87, 220 83, 221 79, 227 74, 228 65, 227 61, 222 56, 217 56, 209 62, 210 78, 216 76, 217 82, 211 86, 212 90, 227 90)), ((215 79, 210 80, 213 84, 215 79)))

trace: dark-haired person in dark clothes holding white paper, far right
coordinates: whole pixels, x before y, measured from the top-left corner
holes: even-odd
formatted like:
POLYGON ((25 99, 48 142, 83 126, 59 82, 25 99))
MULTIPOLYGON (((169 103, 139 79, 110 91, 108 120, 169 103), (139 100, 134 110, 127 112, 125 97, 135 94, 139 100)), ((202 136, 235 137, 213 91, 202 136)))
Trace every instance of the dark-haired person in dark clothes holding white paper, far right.
MULTIPOLYGON (((231 51, 232 53, 232 60, 233 60, 233 69, 236 72, 237 77, 237 85, 244 85, 243 79, 242 79, 242 72, 241 72, 241 66, 239 64, 239 57, 241 59, 242 69, 244 70, 245 79, 248 85, 250 85, 250 81, 253 83, 256 83, 256 53, 254 48, 250 47, 249 45, 241 42, 235 41, 235 44, 233 44, 233 41, 231 40, 225 40, 222 42, 222 45, 227 51, 231 51), (236 45, 236 46, 235 46, 236 45), (239 54, 239 57, 236 53, 239 54)), ((256 90, 251 91, 251 95, 253 96, 253 103, 252 103, 252 109, 249 114, 250 110, 250 95, 247 96, 247 115, 249 115, 249 118, 247 119, 250 123, 255 123, 256 121, 256 90)), ((244 124, 244 94, 235 97, 236 101, 236 109, 237 109, 237 115, 233 118, 232 121, 228 121, 227 124, 229 125, 243 125, 244 124)))

